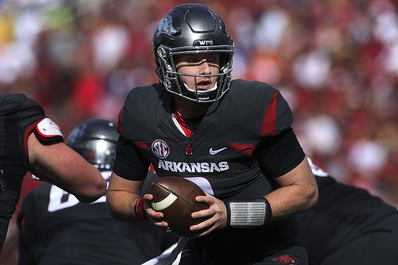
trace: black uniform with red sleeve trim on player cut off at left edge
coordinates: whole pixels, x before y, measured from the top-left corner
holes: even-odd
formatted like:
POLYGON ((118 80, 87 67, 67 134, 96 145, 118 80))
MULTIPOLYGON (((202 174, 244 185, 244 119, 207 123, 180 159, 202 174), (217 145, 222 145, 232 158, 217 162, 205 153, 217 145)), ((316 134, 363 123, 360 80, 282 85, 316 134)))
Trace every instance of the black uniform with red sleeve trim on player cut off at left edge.
POLYGON ((45 118, 43 108, 24 94, 0 94, 0 251, 29 168, 28 136, 45 118))

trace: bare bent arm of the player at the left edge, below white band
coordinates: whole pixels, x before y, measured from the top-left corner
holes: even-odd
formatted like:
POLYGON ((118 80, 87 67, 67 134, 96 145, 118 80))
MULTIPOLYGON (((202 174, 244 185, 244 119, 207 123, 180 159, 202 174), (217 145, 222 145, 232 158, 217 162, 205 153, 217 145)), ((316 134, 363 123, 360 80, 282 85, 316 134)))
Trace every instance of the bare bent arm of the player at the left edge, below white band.
POLYGON ((59 186, 85 203, 105 194, 106 181, 100 171, 66 144, 42 144, 32 133, 28 151, 29 171, 40 180, 59 186))

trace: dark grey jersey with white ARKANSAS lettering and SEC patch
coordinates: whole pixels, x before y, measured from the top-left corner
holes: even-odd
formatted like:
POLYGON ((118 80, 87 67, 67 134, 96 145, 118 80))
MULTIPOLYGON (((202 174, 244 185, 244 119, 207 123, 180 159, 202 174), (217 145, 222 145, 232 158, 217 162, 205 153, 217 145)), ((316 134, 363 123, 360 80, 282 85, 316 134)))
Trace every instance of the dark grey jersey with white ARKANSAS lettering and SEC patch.
POLYGON ((304 158, 302 152, 286 152, 291 157, 288 163, 270 163, 262 171, 253 156, 260 141, 288 130, 293 122, 288 103, 275 88, 232 81, 191 137, 173 119, 172 98, 158 84, 131 90, 119 114, 121 138, 113 166, 118 176, 140 179, 151 163, 159 177, 203 176, 201 187, 209 194, 248 199, 271 192, 272 178, 289 172, 304 158), (138 155, 129 158, 129 153, 138 155))

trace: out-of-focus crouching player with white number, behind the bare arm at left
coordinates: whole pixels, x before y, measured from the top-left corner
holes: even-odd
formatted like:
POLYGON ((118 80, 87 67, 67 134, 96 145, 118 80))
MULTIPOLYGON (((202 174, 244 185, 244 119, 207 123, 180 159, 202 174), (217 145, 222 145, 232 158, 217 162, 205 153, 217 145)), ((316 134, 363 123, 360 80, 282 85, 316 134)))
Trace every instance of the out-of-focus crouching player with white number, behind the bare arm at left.
MULTIPOLYGON (((66 144, 108 180, 118 136, 114 121, 93 118, 79 124, 66 144)), ((149 174, 148 181, 156 177, 149 174)), ((109 214, 105 195, 91 204, 80 203, 74 195, 49 183, 25 196, 17 224, 19 265, 140 265, 178 240, 150 222, 115 220, 109 214)))

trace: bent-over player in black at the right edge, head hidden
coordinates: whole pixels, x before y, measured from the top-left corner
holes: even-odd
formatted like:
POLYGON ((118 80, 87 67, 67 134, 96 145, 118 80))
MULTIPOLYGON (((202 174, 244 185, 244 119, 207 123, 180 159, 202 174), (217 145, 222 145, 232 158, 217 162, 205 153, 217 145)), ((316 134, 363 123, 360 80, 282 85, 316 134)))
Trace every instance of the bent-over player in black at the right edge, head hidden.
POLYGON ((298 214, 309 264, 397 264, 397 208, 367 190, 337 182, 309 162, 319 200, 298 214))

